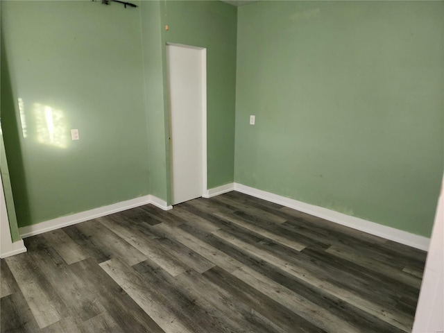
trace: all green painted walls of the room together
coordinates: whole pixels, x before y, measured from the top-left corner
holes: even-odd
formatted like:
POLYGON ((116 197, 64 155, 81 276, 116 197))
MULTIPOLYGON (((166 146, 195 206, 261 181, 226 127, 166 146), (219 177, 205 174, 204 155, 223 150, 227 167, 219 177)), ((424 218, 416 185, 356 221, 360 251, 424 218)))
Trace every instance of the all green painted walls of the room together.
POLYGON ((146 194, 171 202, 169 42, 207 49, 208 188, 234 180, 429 236, 442 1, 135 3, 1 1, 19 226, 146 194))

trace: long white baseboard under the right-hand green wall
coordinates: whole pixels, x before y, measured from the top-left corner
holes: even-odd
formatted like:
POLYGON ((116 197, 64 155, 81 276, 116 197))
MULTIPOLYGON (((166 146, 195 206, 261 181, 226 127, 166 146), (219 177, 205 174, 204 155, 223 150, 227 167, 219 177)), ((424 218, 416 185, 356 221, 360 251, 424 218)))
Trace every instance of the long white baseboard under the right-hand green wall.
POLYGON ((419 236, 418 234, 411 234, 410 232, 391 228, 386 225, 359 219, 359 217, 342 214, 335 212, 334 210, 310 205, 308 203, 302 203, 298 200, 279 196, 278 194, 262 191, 260 189, 255 189, 254 187, 248 187, 237 182, 234 183, 234 191, 239 191, 250 196, 255 196, 256 198, 261 198, 272 203, 293 208, 293 210, 299 210, 300 212, 318 216, 321 219, 367 232, 368 234, 374 234, 375 236, 396 241, 397 243, 405 244, 413 248, 418 248, 425 251, 429 249, 430 239, 419 236))

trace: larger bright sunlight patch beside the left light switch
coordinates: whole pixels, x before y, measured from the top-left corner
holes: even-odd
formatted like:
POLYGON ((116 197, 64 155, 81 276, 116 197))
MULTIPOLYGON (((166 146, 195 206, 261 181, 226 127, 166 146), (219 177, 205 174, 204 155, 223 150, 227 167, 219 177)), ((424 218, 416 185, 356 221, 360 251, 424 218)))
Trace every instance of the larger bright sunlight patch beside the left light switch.
POLYGON ((67 148, 68 136, 65 114, 49 105, 34 104, 37 142, 67 148))

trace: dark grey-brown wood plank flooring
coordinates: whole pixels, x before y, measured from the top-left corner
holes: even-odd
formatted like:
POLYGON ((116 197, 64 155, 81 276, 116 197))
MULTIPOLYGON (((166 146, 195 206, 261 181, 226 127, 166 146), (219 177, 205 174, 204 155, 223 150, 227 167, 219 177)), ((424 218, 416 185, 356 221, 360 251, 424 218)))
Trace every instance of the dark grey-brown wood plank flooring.
POLYGON ((411 332, 426 253, 238 192, 1 260, 1 332, 411 332))

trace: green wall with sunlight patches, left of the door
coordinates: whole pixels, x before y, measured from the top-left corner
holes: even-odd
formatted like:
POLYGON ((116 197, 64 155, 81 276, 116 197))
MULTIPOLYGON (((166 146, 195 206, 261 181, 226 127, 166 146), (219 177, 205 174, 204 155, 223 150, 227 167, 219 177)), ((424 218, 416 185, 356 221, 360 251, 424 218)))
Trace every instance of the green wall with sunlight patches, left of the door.
POLYGON ((148 194, 140 8, 1 1, 1 33, 19 226, 148 194))

